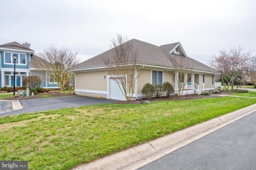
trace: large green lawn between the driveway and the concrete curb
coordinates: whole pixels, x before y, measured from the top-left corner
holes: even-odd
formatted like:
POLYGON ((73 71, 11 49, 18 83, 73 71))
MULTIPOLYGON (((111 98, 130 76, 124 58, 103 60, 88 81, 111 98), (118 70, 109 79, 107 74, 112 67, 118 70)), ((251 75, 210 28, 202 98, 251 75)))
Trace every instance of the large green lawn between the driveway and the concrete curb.
POLYGON ((71 169, 256 103, 217 97, 137 105, 89 105, 0 118, 0 160, 71 169))

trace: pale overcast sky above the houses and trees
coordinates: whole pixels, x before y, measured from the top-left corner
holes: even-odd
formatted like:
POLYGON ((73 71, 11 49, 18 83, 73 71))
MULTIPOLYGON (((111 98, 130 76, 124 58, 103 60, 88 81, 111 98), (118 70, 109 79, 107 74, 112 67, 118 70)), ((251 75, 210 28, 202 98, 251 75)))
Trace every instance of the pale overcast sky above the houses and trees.
POLYGON ((256 50, 256 1, 1 0, 0 44, 30 42, 78 52, 83 60, 106 50, 117 33, 155 45, 181 42, 207 63, 218 50, 256 50))

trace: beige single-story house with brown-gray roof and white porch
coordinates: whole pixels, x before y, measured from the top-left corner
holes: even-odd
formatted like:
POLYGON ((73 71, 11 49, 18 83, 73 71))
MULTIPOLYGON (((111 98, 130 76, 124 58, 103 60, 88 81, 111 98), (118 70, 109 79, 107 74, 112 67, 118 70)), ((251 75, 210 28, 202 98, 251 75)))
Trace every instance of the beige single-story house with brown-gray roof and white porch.
MULTIPOLYGON (((144 97, 142 87, 146 83, 156 85, 163 84, 166 81, 171 82, 175 88, 175 93, 177 93, 177 84, 180 82, 177 80, 179 72, 175 69, 175 65, 170 58, 180 58, 187 63, 191 63, 190 73, 188 73, 190 74, 189 80, 186 79, 187 83, 183 94, 194 93, 195 90, 197 92, 214 90, 215 75, 219 75, 219 72, 195 59, 189 58, 180 42, 156 46, 132 39, 125 43, 130 43, 131 47, 139 52, 136 65, 139 68, 137 75, 140 76, 135 80, 133 99, 144 97)), ((115 77, 108 74, 108 67, 104 63, 104 59, 112 58, 112 52, 113 50, 110 49, 70 69, 75 73, 75 93, 125 100, 117 82, 114 80, 115 77)), ((185 73, 184 78, 187 77, 185 73)))

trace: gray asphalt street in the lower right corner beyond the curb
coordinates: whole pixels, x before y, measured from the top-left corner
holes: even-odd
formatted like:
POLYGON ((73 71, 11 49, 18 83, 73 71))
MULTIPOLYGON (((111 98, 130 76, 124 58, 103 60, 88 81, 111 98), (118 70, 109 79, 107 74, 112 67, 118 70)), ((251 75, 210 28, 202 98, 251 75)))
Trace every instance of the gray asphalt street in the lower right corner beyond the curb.
POLYGON ((256 169, 256 112, 140 169, 256 169))

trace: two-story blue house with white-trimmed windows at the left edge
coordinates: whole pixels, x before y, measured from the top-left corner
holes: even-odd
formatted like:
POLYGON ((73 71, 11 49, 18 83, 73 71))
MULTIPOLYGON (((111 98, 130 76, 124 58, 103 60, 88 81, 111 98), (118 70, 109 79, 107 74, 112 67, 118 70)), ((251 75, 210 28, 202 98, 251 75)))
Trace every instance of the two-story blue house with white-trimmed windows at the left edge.
POLYGON ((18 42, 10 42, 0 45, 0 66, 1 66, 1 78, 0 86, 13 87, 14 86, 14 59, 13 54, 18 57, 16 59, 16 87, 22 87, 22 79, 26 76, 37 75, 41 78, 42 88, 58 88, 55 80, 51 80, 45 71, 40 71, 36 68, 36 62, 41 58, 34 55, 35 51, 30 49, 30 44, 25 42, 19 44, 18 42))

